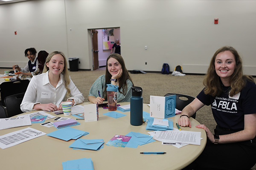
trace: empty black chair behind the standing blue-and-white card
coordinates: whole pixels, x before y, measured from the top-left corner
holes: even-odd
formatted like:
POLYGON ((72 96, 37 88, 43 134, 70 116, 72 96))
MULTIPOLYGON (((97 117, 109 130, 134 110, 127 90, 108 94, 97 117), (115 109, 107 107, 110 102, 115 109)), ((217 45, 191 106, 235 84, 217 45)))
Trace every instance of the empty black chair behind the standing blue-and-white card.
MULTIPOLYGON (((189 103, 191 103, 195 97, 188 96, 185 94, 175 94, 175 93, 168 93, 164 96, 171 96, 171 95, 176 95, 176 109, 182 111, 183 108, 186 107, 189 103)), ((192 118, 195 119, 195 114, 191 116, 192 118)))

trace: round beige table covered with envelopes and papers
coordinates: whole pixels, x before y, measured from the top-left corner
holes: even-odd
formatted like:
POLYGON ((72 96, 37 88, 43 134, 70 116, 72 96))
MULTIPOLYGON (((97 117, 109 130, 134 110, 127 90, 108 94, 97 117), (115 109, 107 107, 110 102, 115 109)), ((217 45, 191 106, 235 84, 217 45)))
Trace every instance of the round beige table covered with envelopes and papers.
MULTIPOLYGON (((82 103, 87 105, 91 103, 82 103)), ((127 105, 128 102, 119 103, 127 105)), ((144 104, 143 111, 149 113, 149 106, 144 104)), ((130 112, 124 112, 127 116, 118 119, 105 116, 103 113, 108 109, 99 108, 99 120, 97 122, 84 122, 78 120, 81 125, 73 126, 73 128, 84 130, 90 134, 82 136, 81 139, 104 139, 107 143, 114 135, 126 135, 134 131, 148 134, 145 130, 146 123, 141 126, 132 126, 130 124, 130 112)), ((123 113, 121 111, 117 111, 123 113)), ((49 112, 48 112, 49 113, 49 112)), ((26 114, 26 113, 23 113, 26 114)), ((51 113, 55 115, 54 113, 51 113)), ((64 117, 63 114, 55 115, 64 117)), ((73 119, 76 117, 71 116, 73 119)), ((174 116, 175 123, 180 116, 174 116)), ((190 118, 192 127, 181 127, 182 130, 201 132, 201 145, 186 145, 176 148, 170 145, 162 145, 161 142, 155 141, 149 144, 139 145, 137 148, 131 147, 113 147, 104 144, 104 148, 95 150, 73 150, 69 147, 74 140, 63 141, 47 135, 17 144, 13 147, 0 149, 0 160, 2 170, 62 170, 62 162, 73 159, 91 158, 95 170, 180 170, 186 165, 194 161, 204 150, 207 136, 203 129, 196 128, 199 123, 190 118), (166 152, 166 154, 140 154, 140 152, 166 152)), ((55 122, 53 119, 47 121, 55 122)), ((11 129, 0 130, 0 136, 32 127, 44 133, 50 133, 57 130, 55 127, 44 127, 40 123, 31 126, 15 127, 11 129)))

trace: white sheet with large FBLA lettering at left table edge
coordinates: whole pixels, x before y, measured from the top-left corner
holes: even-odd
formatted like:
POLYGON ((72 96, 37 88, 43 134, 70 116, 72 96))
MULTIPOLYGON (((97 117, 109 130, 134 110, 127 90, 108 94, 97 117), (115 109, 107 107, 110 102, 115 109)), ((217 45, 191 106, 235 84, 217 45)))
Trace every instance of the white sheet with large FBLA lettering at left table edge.
POLYGON ((0 130, 31 125, 29 116, 0 119, 0 130))

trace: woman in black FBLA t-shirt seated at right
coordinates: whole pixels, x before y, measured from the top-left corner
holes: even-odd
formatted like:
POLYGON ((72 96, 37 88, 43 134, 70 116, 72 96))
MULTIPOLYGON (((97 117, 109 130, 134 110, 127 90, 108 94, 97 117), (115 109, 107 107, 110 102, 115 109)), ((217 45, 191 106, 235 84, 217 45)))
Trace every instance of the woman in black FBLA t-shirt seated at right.
POLYGON ((256 85, 243 75, 236 49, 224 46, 213 55, 205 88, 181 112, 178 124, 191 127, 189 117, 211 105, 217 123, 215 135, 205 125, 207 144, 201 155, 183 170, 246 170, 256 163, 256 85))

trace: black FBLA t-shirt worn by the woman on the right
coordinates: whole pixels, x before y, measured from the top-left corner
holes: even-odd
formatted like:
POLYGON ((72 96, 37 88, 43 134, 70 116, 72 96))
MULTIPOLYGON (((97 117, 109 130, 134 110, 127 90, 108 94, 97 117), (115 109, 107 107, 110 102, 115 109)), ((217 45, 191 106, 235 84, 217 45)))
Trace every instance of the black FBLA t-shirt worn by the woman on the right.
POLYGON ((211 105, 217 125, 232 130, 244 129, 244 114, 256 113, 256 84, 247 81, 241 92, 232 97, 228 92, 213 97, 202 90, 197 98, 205 105, 211 105))

